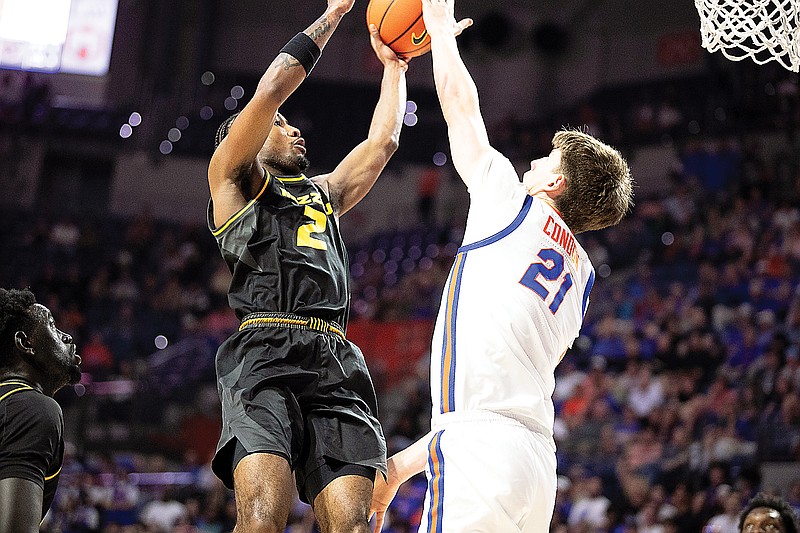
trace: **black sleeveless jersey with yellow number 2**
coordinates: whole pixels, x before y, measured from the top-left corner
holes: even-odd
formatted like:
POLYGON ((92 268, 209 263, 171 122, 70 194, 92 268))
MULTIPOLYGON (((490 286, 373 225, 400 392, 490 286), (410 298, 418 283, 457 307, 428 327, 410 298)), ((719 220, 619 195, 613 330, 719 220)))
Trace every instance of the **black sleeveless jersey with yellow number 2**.
POLYGON ((267 174, 258 195, 219 227, 209 203, 208 223, 233 274, 228 300, 239 318, 272 311, 347 325, 347 251, 313 181, 267 174))

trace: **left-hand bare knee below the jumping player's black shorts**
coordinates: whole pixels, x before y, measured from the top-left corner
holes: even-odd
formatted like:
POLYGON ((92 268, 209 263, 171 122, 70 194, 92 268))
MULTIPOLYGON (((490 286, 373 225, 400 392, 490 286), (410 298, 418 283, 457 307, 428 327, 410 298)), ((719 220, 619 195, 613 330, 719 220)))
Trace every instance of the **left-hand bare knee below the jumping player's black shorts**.
POLYGON ((279 455, 254 453, 233 471, 234 533, 282 533, 294 494, 289 463, 279 455))

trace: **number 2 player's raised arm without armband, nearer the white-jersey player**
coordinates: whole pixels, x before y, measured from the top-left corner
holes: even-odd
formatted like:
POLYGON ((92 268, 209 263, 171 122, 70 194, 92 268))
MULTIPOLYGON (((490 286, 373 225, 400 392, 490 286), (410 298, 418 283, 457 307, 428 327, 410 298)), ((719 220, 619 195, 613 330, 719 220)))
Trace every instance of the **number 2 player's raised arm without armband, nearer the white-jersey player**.
POLYGON ((406 107, 408 64, 381 42, 378 30, 370 27, 370 43, 383 63, 381 93, 372 115, 367 139, 356 146, 327 176, 328 193, 337 214, 342 215, 369 192, 389 158, 397 150, 406 107))

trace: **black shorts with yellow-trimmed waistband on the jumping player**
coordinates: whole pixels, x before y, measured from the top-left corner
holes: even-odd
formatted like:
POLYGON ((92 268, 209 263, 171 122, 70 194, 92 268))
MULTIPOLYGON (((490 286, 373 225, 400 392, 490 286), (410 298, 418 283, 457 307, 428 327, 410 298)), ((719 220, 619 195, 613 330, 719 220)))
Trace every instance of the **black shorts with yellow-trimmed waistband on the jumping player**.
POLYGON ((216 367, 222 434, 212 468, 227 487, 251 453, 284 457, 308 503, 340 475, 386 472, 364 356, 336 324, 286 313, 248 315, 220 346, 216 367))

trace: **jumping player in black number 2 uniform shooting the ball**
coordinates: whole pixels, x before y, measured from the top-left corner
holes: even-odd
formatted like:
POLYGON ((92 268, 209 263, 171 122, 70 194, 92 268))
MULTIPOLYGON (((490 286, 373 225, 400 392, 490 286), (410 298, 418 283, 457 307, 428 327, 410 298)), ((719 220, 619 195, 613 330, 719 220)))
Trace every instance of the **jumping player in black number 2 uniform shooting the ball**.
POLYGON ((235 492, 238 533, 284 530, 293 476, 324 533, 367 532, 374 475, 385 473, 375 391, 345 337, 348 259, 338 219, 397 149, 407 64, 371 28, 384 66, 380 97, 367 139, 329 174, 303 174, 305 141, 278 111, 353 3, 328 0, 286 44, 252 100, 220 127, 209 164, 209 228, 241 320, 217 353, 223 428, 212 466, 235 492))

